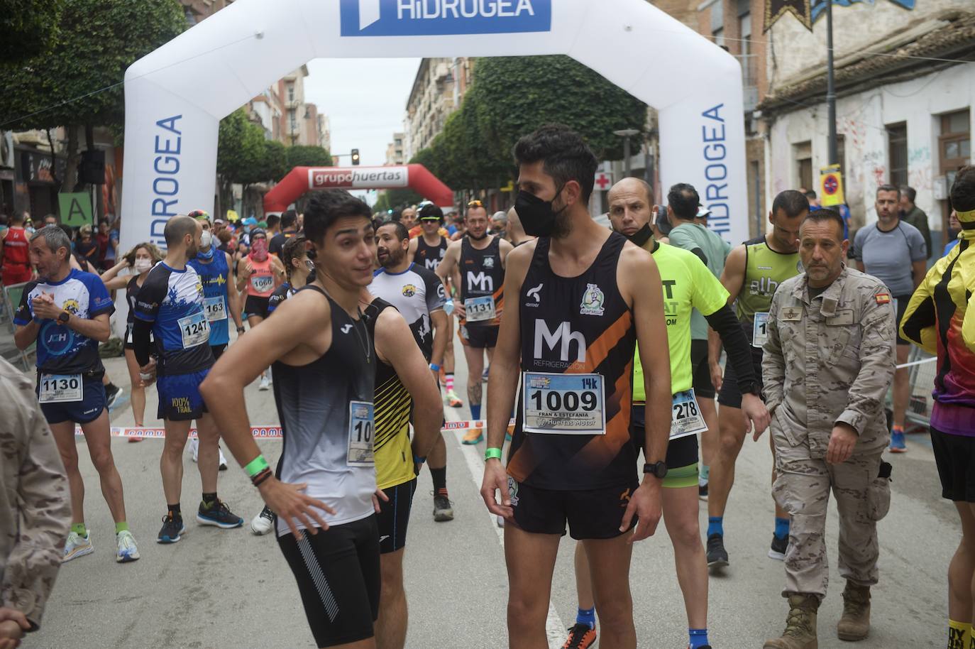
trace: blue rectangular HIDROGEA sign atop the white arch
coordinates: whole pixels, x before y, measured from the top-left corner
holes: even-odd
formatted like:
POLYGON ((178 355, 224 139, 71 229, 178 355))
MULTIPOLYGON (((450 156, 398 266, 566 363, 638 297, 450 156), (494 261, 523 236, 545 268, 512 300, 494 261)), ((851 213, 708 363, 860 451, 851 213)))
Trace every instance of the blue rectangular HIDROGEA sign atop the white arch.
POLYGON ((552 30, 553 0, 340 0, 342 36, 446 36, 552 30))

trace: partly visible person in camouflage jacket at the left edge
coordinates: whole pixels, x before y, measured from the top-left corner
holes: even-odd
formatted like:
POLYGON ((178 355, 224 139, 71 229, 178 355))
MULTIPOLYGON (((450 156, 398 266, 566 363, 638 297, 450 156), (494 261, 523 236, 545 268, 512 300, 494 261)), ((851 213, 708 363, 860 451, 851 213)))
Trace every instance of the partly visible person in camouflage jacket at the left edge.
POLYGON ((67 478, 34 385, 0 358, 0 646, 40 627, 71 523, 67 478))

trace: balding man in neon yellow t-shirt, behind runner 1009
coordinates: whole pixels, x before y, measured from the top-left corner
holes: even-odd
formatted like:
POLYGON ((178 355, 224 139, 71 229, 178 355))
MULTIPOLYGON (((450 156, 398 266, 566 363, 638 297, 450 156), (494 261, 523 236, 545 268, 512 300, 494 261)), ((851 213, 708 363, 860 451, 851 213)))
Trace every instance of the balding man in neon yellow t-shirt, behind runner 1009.
MULTIPOLYGON (((748 339, 738 326, 731 307, 727 305, 728 294, 722 283, 695 255, 653 238, 650 228, 653 191, 650 186, 640 179, 627 178, 612 186, 608 200, 612 228, 653 255, 653 261, 660 271, 673 393, 673 419, 666 459, 667 475, 662 482, 663 515, 674 545, 678 581, 687 611, 688 645, 693 648, 708 646, 708 564, 698 524, 696 434, 704 432, 705 422, 698 415, 699 402, 691 372, 692 309, 705 313, 708 323, 722 334, 722 340, 728 348, 729 362, 749 375, 753 383, 757 382, 757 376, 751 362, 748 339)), ((639 349, 634 355, 633 363, 631 433, 634 443, 640 447, 646 421, 646 397, 642 387, 643 366, 639 349)), ((707 363, 704 367, 706 372, 707 363)), ((764 406, 758 399, 749 405, 752 406, 749 415, 755 421, 756 428, 763 430, 768 425, 768 414, 764 406)), ((580 544, 576 547, 575 559, 580 610, 577 624, 585 624, 586 612, 594 605, 587 564, 585 550, 580 544)), ((573 628, 573 632, 579 636, 587 636, 587 629, 573 628)))

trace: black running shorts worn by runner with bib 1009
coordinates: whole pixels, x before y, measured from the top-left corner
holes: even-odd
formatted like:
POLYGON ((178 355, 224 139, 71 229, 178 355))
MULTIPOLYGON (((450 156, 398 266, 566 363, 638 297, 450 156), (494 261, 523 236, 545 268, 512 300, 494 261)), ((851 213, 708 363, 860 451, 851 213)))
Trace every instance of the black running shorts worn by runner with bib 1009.
MULTIPOLYGON (((514 523, 532 534, 561 534, 565 522, 569 535, 581 539, 613 539, 621 532, 623 513, 640 483, 586 491, 555 491, 519 484, 508 476, 508 495, 514 509, 514 523)), ((633 517, 630 529, 637 525, 633 517)))

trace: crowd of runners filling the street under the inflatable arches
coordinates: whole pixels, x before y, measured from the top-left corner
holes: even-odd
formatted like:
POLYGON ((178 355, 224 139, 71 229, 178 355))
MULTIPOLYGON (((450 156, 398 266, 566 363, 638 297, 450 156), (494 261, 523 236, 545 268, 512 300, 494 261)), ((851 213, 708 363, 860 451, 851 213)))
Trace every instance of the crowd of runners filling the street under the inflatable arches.
MULTIPOLYGON (((155 540, 176 544, 186 531, 188 440, 201 481, 196 522, 245 524, 217 494, 222 440, 265 503, 250 528, 276 536, 316 646, 405 646, 417 476, 426 465, 426 510, 452 520, 442 426, 445 407, 464 405, 472 423, 462 442, 486 444, 481 495, 504 528, 511 647, 548 647, 566 532, 578 613, 565 648, 597 637, 603 647, 655 646, 636 635, 630 562, 632 544, 662 518, 687 646, 709 648, 709 574, 754 551, 734 536, 753 521, 724 520, 735 461, 746 437, 766 429, 775 457, 767 554, 783 561, 787 603, 782 635, 763 646, 810 649, 827 632, 860 640, 878 584, 877 522, 890 503, 881 455, 906 450, 904 410, 895 404, 891 425, 884 403, 891 385, 903 398, 895 365, 915 344, 938 355, 931 435, 963 533, 947 646, 975 647, 975 168, 959 171, 951 190, 960 243, 925 272, 924 240, 888 209, 896 187, 878 190, 877 232, 861 230, 853 252, 839 213, 799 190, 775 196, 766 234, 732 247, 708 229, 686 183, 669 189, 664 209, 647 183, 624 179, 608 193, 611 229, 594 221, 597 159, 565 127, 526 135, 514 155, 519 192, 507 213, 473 200, 456 219, 423 203, 389 220, 345 191, 319 191, 300 215, 237 229, 202 211, 176 216, 165 252, 138 244, 100 276, 76 267, 56 223, 25 236, 38 278, 24 288, 16 343, 37 345, 34 401, 63 463, 70 528, 60 533, 68 513, 47 505, 37 537, 50 544, 33 559, 44 574, 8 573, 50 584, 59 562, 95 550, 76 426, 115 520, 116 560, 139 558, 98 355, 111 335, 110 292, 124 290, 136 424, 154 385, 166 433, 155 540), (454 390, 455 333, 466 399, 454 390), (265 458, 252 434, 245 388, 254 383, 273 388, 280 458, 265 458), (831 491, 845 585, 827 631, 817 610, 831 491)), ((50 586, 40 590, 27 611, 0 608, 0 630, 36 628, 50 586)))

